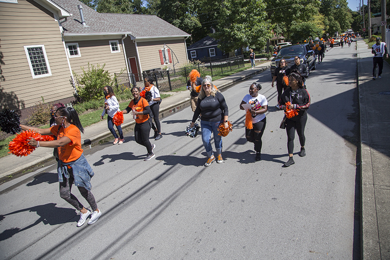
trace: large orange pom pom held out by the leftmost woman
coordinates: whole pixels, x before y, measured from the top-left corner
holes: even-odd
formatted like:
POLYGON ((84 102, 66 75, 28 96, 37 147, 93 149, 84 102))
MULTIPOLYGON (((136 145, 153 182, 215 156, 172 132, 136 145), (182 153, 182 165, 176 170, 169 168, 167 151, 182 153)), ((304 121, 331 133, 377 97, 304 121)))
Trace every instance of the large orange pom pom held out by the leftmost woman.
POLYGON ((36 146, 29 144, 29 140, 31 138, 40 140, 41 135, 31 130, 23 131, 16 135, 16 137, 8 144, 8 149, 10 150, 8 153, 12 153, 13 155, 20 157, 31 154, 37 148, 36 146))

